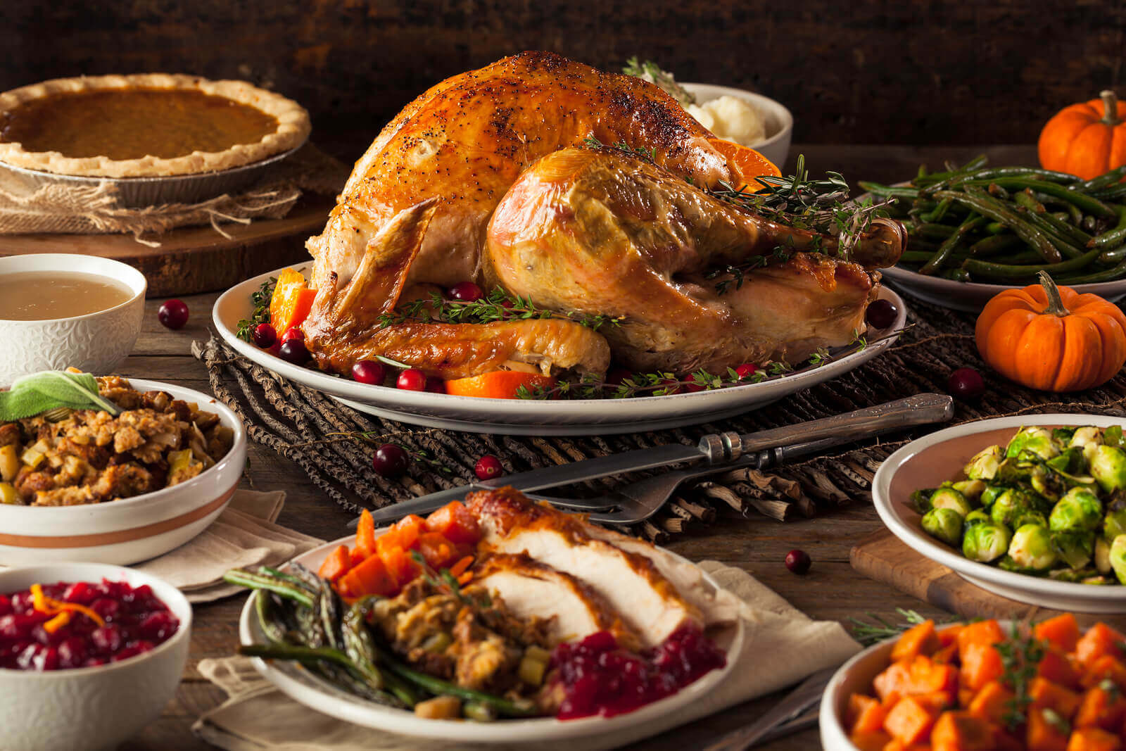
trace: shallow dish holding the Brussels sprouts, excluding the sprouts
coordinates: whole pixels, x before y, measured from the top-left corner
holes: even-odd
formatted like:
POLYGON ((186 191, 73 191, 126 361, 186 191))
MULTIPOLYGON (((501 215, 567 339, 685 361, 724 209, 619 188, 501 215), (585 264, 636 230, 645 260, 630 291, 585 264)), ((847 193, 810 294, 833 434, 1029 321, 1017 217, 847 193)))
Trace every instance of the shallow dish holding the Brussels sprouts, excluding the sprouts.
POLYGON ((1098 414, 1025 414, 955 426, 913 440, 892 454, 876 472, 873 502, 881 520, 912 549, 953 569, 984 590, 1029 605, 1080 613, 1126 613, 1126 587, 1098 587, 1002 571, 971 561, 922 530, 911 493, 955 479, 978 452, 1004 445, 1021 426, 1123 424, 1121 418, 1098 414))

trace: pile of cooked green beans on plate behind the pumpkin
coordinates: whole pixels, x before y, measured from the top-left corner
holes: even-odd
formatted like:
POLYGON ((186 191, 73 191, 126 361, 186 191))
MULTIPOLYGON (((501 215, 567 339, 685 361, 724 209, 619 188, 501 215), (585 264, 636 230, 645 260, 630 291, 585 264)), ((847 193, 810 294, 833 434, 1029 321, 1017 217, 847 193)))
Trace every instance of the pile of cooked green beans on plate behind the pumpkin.
POLYGON ((1126 277, 1126 167, 1091 180, 1027 167, 928 172, 905 186, 859 182, 903 220, 910 244, 900 266, 957 281, 1060 284, 1126 277))

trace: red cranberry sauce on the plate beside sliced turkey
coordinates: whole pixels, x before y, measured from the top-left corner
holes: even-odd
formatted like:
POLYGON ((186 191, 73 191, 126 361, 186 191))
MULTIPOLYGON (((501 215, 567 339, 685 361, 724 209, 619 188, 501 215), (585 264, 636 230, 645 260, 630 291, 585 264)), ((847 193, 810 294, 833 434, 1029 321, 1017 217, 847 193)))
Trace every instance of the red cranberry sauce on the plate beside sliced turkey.
POLYGON ((581 642, 558 644, 552 652, 555 681, 563 691, 556 717, 633 712, 725 664, 723 651, 694 626, 681 626, 640 654, 618 647, 609 632, 597 632, 581 642))

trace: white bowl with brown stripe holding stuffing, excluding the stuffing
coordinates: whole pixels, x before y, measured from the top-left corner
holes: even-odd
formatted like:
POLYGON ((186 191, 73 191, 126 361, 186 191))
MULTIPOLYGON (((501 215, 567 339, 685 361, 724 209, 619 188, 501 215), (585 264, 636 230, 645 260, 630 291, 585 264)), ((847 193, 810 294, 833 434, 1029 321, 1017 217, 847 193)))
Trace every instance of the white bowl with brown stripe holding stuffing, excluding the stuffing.
POLYGON ((140 392, 164 391, 196 402, 234 430, 234 444, 215 466, 171 488, 84 506, 0 504, 0 564, 92 561, 128 565, 179 547, 223 512, 247 462, 247 431, 214 396, 157 381, 129 378, 140 392))

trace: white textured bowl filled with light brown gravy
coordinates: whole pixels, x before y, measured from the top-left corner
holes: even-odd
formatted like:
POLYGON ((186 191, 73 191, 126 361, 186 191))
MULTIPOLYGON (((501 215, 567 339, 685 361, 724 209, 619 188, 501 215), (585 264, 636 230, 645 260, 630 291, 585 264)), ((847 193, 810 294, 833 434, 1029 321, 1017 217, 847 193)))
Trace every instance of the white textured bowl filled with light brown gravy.
POLYGON ((0 388, 39 370, 109 374, 133 350, 145 278, 97 256, 0 258, 0 388))

